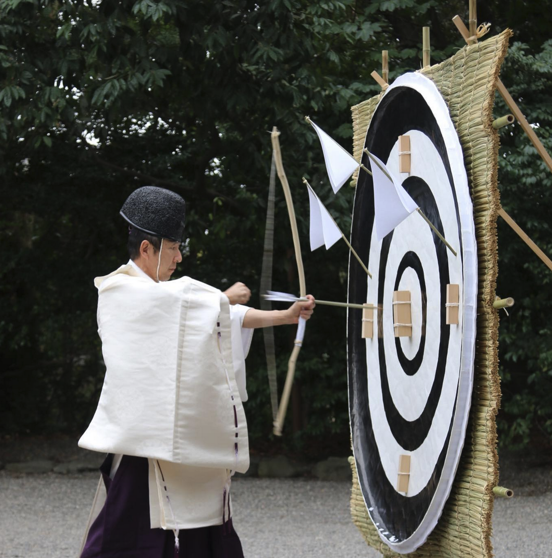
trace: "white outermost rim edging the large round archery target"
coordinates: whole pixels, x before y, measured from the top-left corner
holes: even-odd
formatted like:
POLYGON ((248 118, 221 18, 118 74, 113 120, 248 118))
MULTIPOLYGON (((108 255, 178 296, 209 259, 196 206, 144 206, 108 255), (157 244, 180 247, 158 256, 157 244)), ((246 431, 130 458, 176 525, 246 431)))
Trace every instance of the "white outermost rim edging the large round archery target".
MULTIPOLYGON (((420 93, 428 107, 430 108, 436 123, 443 135, 445 148, 448 154, 450 169, 454 182, 454 189, 457 194, 458 211, 460 218, 460 232, 462 237, 462 251, 463 251, 463 299, 460 300, 460 305, 463 307, 463 324, 462 324, 462 349, 460 355, 460 372, 457 391, 457 405, 454 415, 452 430, 450 434, 450 441, 447 448, 447 454, 439 479, 438 487, 435 490, 433 499, 430 506, 420 522, 419 527, 412 533, 409 538, 400 542, 391 542, 389 538, 382 534, 379 525, 372 518, 369 513, 369 504, 366 502, 364 493, 361 487, 362 498, 366 506, 368 516, 370 517, 373 525, 376 528, 381 540, 389 546, 392 550, 399 554, 407 554, 415 551, 421 546, 430 535, 431 531, 435 528, 441 513, 443 512, 444 505, 449 497, 454 477, 460 461, 460 454, 464 446, 465 432, 469 417, 469 408, 471 405, 471 395, 473 388, 473 374, 474 374, 474 357, 475 357, 475 341, 476 341, 476 316, 477 316, 477 241, 475 224, 473 220, 473 205, 471 196, 469 195, 469 187, 467 175, 464 167, 464 158, 462 146, 458 138, 454 124, 450 119, 449 109, 439 90, 430 79, 426 78, 418 72, 407 73, 397 78, 392 85, 390 85, 385 95, 389 94, 397 87, 409 87, 420 93)), ((382 100, 381 99, 381 100, 382 100)), ((381 103, 380 100, 380 103, 381 103)), ((377 107, 376 109, 377 110, 377 107)), ((375 112, 375 111, 374 111, 375 112)), ((366 131, 368 134, 369 126, 366 131)), ((366 136, 363 145, 366 144, 366 136)), ((357 179, 358 184, 358 179, 357 179)), ((353 224, 351 225, 353 228, 353 224)), ((350 258, 350 255, 349 255, 350 258)), ((349 277, 350 280, 350 277, 349 277)), ((369 281, 369 279, 368 279, 369 281)), ((349 288, 349 286, 348 286, 349 288)), ((347 318, 347 324, 349 319, 347 318)), ((347 336, 349 336, 347 325, 347 336)), ((347 375, 347 382, 349 383, 349 374, 347 375)), ((349 395, 349 410, 351 410, 351 386, 348 385, 349 395)), ((351 421, 351 436, 353 436, 351 421)), ((357 456, 353 456, 355 464, 358 464, 357 456)), ((357 465, 358 466, 358 465, 357 465)))

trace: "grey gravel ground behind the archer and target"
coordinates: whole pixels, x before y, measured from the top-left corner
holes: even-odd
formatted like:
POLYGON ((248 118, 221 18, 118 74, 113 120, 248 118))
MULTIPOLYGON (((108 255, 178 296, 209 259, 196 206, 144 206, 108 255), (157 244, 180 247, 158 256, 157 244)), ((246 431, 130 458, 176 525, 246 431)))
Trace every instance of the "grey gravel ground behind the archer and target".
MULTIPOLYGON (((507 478, 507 475, 505 475, 507 478)), ((552 557, 549 467, 512 473, 511 499, 497 499, 497 558, 552 557)), ((98 475, 0 472, 0 556, 74 558, 98 475)), ((248 558, 376 558, 349 516, 348 482, 241 478, 232 483, 234 525, 248 558)), ((438 557, 435 557, 438 558, 438 557)))

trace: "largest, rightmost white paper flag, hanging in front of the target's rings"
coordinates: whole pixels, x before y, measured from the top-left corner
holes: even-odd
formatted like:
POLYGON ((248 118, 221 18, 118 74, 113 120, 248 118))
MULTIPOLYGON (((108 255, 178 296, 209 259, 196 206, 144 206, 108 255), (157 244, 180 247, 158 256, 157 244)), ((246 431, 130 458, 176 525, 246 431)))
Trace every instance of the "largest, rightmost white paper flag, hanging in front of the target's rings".
POLYGON ((374 183, 376 234, 381 240, 418 206, 375 155, 369 153, 369 158, 374 183))

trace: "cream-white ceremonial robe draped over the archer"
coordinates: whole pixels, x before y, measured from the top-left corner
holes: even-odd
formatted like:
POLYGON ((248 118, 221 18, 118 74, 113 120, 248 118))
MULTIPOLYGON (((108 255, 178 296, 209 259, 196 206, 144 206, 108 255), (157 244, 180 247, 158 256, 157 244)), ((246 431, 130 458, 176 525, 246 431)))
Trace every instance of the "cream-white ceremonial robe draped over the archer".
MULTIPOLYGON (((149 458, 151 527, 222 523, 230 471, 249 466, 242 400, 252 330, 241 328, 248 308, 229 306, 219 290, 189 277, 156 283, 133 262, 94 284, 107 372, 79 446, 149 458)), ((100 483, 89 523, 102 492, 100 483)))

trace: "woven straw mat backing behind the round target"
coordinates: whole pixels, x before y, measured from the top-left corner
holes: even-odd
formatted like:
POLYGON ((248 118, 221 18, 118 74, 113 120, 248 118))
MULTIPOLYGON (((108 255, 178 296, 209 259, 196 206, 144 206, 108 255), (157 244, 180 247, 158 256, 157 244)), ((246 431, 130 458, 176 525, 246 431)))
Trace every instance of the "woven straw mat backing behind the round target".
MULTIPOLYGON (((447 102, 464 152, 473 201, 478 244, 477 340, 472 406, 456 478, 439 522, 411 558, 490 558, 492 489, 498 483, 496 413, 500 405, 498 377, 498 312, 493 309, 497 277, 496 219, 498 134, 492 108, 500 65, 506 55, 506 30, 421 73, 434 81, 447 102)), ((352 107, 354 157, 360 160, 366 128, 382 94, 352 107)), ((356 177, 355 177, 356 179, 356 177)), ((368 545, 386 558, 401 556, 377 535, 358 484, 354 459, 351 515, 368 545)))

